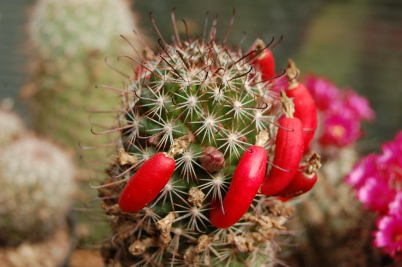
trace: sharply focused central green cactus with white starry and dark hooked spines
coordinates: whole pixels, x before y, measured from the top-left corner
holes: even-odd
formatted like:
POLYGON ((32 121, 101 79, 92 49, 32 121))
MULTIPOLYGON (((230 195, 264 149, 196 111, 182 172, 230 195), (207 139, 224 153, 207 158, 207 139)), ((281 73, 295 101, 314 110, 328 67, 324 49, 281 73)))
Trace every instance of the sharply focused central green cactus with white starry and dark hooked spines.
MULTIPOLYGON (((172 20, 174 24, 174 13, 172 20)), ((155 25, 152 17, 151 22, 155 25)), ((129 77, 127 86, 101 86, 119 92, 122 102, 115 125, 97 133, 120 133, 113 142, 117 144, 116 161, 108 170, 110 178, 97 186, 113 228, 111 242, 104 247, 110 266, 260 266, 278 262, 274 237, 286 233, 283 224, 292 215, 292 207, 256 191, 251 207, 234 225, 217 228, 209 218, 213 202, 224 209, 222 202, 239 160, 250 153, 256 136, 264 132, 270 138, 261 146, 268 163, 272 162, 277 121, 283 114, 279 94, 270 90, 275 77, 263 80, 254 67, 256 55, 265 47, 244 52, 227 46, 231 26, 218 43, 216 24, 214 20, 208 36, 204 32, 196 39, 182 40, 175 29, 170 44, 154 26, 162 49, 154 53, 146 47, 146 55, 139 55, 141 61, 122 55, 122 60, 139 64, 133 75, 123 75, 129 77), (176 167, 159 195, 146 200, 142 209, 138 203, 124 204, 130 199, 130 190, 149 196, 143 191, 154 184, 160 186, 161 177, 156 177, 158 181, 149 180, 141 188, 131 183, 121 194, 126 181, 144 162, 149 166, 151 157, 154 165, 138 171, 141 181, 136 183, 146 181, 147 172, 170 177, 153 155, 170 155, 178 150, 177 144, 184 145, 172 156, 176 167)), ((245 168, 253 164, 248 162, 245 168)), ((270 168, 275 167, 268 165, 267 172, 270 168)), ((156 189, 149 190, 155 193, 156 189)), ((133 197, 139 198, 137 194, 133 197)), ((233 202, 243 199, 231 201, 235 205, 233 202)))

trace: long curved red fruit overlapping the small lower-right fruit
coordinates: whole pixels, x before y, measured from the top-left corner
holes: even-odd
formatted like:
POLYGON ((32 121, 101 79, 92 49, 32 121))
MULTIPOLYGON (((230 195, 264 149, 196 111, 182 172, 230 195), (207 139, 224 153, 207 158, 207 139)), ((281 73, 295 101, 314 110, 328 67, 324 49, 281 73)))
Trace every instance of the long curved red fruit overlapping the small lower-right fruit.
POLYGON ((281 127, 276 135, 273 164, 288 171, 271 167, 261 185, 261 194, 266 196, 274 196, 290 183, 296 175, 304 151, 302 122, 296 117, 284 117, 279 124, 281 127))

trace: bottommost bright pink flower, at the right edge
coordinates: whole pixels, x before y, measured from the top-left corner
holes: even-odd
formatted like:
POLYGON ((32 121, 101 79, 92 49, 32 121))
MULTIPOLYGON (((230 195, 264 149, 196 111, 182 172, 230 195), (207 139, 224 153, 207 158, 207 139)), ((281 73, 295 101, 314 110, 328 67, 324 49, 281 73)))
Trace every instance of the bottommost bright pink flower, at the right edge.
POLYGON ((378 231, 373 233, 374 246, 395 257, 402 251, 402 216, 383 216, 377 221, 378 231))

